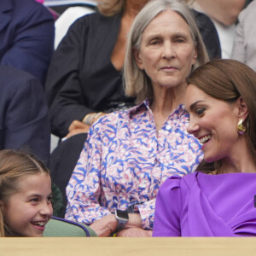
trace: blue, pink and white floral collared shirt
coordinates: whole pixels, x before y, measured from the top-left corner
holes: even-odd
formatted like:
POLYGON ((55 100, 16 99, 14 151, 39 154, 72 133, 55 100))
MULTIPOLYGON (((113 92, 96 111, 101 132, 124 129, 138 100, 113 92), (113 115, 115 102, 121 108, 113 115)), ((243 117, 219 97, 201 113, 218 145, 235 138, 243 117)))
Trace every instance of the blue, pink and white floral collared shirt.
POLYGON ((194 172, 202 160, 201 144, 188 134, 188 123, 180 105, 157 132, 148 101, 99 119, 67 185, 66 218, 91 224, 135 204, 143 229, 152 230, 160 184, 194 172))

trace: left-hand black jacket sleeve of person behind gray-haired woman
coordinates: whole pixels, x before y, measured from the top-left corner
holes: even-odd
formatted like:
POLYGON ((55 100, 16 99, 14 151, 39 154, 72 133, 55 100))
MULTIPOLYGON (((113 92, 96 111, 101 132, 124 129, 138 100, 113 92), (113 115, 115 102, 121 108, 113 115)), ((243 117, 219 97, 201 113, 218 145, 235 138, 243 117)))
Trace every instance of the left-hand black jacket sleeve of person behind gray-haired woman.
POLYGON ((73 23, 55 50, 46 79, 51 130, 58 137, 67 135, 73 120, 82 120, 94 111, 86 107, 79 74, 89 26, 81 19, 73 23))

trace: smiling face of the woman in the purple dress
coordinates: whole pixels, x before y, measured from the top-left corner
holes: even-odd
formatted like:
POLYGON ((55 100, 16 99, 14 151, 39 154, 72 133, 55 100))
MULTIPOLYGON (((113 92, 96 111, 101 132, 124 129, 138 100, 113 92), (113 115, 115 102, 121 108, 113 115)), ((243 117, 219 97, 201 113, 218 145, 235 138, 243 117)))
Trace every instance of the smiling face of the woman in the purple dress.
POLYGON ((185 107, 189 112, 188 132, 200 140, 204 159, 207 162, 231 159, 240 139, 236 131, 239 100, 224 102, 189 84, 185 107))

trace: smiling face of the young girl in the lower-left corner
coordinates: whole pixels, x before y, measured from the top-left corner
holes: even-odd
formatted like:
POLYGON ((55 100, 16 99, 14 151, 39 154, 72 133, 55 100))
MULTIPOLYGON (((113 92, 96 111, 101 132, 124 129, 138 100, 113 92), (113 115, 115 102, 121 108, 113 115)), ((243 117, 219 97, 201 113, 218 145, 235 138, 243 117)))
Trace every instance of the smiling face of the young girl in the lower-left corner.
POLYGON ((15 236, 43 236, 53 213, 51 180, 38 173, 20 177, 19 190, 2 206, 3 218, 15 236))

